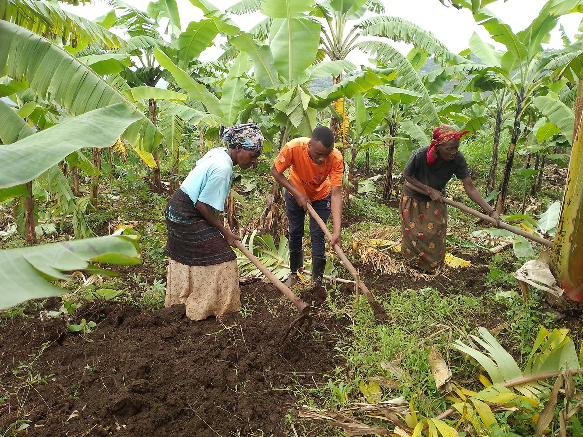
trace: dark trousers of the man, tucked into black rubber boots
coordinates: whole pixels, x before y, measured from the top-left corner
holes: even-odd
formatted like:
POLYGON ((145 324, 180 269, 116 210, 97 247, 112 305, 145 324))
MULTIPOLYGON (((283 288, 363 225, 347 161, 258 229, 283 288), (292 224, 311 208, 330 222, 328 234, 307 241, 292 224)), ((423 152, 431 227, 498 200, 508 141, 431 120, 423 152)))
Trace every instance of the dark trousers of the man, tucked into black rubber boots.
MULTIPOLYGON (((286 216, 289 222, 289 245, 290 252, 300 252, 301 251, 301 240, 304 238, 304 217, 305 211, 296 202, 294 196, 290 195, 289 192, 285 193, 286 199, 286 216)), ((332 193, 328 197, 320 200, 312 201, 312 207, 315 212, 320 216, 322 221, 326 223, 332 208, 330 206, 330 201, 332 199, 332 193)), ((312 240, 312 257, 324 258, 324 231, 321 230, 318 223, 310 216, 310 238, 312 240)))

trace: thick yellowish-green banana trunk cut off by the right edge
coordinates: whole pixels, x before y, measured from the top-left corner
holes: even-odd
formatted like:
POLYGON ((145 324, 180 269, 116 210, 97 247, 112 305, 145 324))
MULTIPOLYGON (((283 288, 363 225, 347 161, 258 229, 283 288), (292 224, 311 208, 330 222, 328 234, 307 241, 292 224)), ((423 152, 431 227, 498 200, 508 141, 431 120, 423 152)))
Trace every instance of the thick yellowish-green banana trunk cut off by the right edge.
MULTIPOLYGON (((580 81, 581 82, 581 81, 580 81)), ((580 83, 581 85, 581 83, 580 83)), ((578 97, 579 99, 579 97, 578 97)), ((551 271, 568 299, 583 302, 583 131, 581 111, 575 118, 575 137, 561 203, 551 271)))

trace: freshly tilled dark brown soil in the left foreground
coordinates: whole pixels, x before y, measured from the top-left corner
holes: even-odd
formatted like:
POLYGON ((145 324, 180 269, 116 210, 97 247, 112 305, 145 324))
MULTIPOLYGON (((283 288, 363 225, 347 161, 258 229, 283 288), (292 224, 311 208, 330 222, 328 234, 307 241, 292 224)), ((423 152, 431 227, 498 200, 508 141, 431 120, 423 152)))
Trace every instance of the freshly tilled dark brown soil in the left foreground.
MULTIPOLYGON (((183 306, 152 314, 116 302, 78 309, 76 323, 97 322, 90 334, 59 319, 13 319, 0 329, 0 381, 6 392, 29 378, 46 383, 0 402, 0 429, 26 418, 31 436, 285 435, 294 390, 326 382, 335 344, 296 331, 280 347, 296 309, 271 284, 243 284, 241 295, 246 319, 193 322, 183 306)), ((325 297, 321 288, 305 295, 325 297)), ((315 318, 322 325, 343 329, 342 320, 315 318)))

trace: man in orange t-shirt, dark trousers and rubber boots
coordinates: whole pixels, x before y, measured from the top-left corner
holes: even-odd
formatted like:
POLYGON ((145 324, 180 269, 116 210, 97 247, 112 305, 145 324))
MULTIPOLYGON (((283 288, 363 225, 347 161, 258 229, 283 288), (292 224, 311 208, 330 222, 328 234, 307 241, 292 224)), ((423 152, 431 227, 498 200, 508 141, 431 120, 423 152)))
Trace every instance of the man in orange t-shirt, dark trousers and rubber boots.
MULTIPOLYGON (((283 146, 271 166, 271 174, 286 188, 286 215, 289 222, 290 276, 289 287, 298 280, 297 270, 304 265, 301 241, 304 237, 306 204, 310 203, 324 223, 332 213, 334 231, 329 240, 331 247, 340 244, 342 218, 342 174, 344 161, 334 147, 334 135, 329 128, 318 126, 310 138, 296 138, 283 146), (291 167, 289 180, 283 175, 291 167)), ((322 281, 326 257, 324 232, 310 217, 312 240, 312 280, 322 281)))

